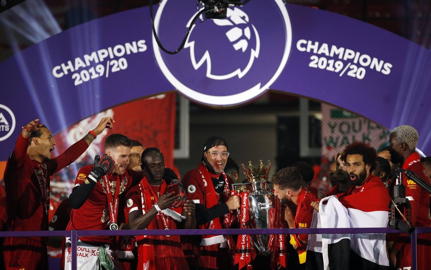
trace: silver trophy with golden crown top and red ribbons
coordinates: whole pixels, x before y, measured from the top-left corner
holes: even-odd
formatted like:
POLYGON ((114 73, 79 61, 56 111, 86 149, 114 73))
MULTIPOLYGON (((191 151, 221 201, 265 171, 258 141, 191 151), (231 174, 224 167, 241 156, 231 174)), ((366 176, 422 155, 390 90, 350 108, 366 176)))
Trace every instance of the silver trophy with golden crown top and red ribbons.
MULTIPOLYGON (((233 190, 237 193, 248 193, 248 203, 241 201, 241 208, 248 204, 248 215, 243 213, 245 209, 241 209, 239 220, 247 218, 247 225, 242 228, 252 229, 270 229, 270 224, 273 221, 274 214, 274 194, 267 189, 269 183, 268 177, 271 169, 271 162, 268 160, 268 166, 265 167, 260 160, 259 167, 255 168, 249 161, 248 169, 241 164, 245 177, 248 183, 234 184, 233 190)), ((243 196, 241 196, 241 199, 243 196)), ((268 248, 268 234, 252 235, 253 244, 256 248, 256 253, 263 255, 270 254, 268 248)))

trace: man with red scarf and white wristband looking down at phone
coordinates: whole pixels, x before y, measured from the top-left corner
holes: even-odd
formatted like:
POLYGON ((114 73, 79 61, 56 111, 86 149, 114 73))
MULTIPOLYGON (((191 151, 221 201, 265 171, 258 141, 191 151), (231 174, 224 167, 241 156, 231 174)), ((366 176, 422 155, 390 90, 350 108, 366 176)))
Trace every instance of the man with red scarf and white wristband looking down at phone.
MULTIPOLYGON (((124 211, 128 216, 130 229, 194 229, 195 203, 192 200, 184 203, 186 194, 178 180, 173 180, 168 185, 163 179, 163 154, 157 148, 147 148, 142 153, 142 167, 145 177, 126 195, 127 205, 124 211), (171 187, 175 187, 176 192, 169 192, 171 187)), ((189 269, 179 235, 138 235, 136 242, 138 270, 189 269)))

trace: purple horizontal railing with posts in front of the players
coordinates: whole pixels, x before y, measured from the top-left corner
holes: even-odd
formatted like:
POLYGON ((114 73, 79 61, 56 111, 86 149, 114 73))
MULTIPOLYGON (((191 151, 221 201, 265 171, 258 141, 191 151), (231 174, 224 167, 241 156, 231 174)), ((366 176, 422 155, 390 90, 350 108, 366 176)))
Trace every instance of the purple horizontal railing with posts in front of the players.
MULTIPOLYGON (((334 234, 334 233, 402 233, 391 228, 325 228, 325 229, 217 229, 217 230, 169 230, 169 235, 206 235, 206 234, 334 234)), ((410 234, 412 244, 412 269, 417 268, 417 238, 421 233, 431 233, 431 228, 418 227, 410 234)), ((0 231, 0 237, 26 236, 65 236, 71 237, 72 269, 77 269, 78 237, 86 235, 163 235, 166 230, 124 230, 124 231, 0 231)))

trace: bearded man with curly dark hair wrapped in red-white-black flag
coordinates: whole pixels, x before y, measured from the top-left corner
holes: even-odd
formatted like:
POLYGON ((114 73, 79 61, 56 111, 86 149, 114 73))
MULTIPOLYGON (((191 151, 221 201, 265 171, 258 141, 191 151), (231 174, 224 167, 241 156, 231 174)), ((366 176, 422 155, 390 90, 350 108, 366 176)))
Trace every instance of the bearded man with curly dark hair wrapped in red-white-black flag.
MULTIPOLYGON (((362 142, 354 142, 344 149, 343 159, 346 160, 352 187, 345 193, 312 202, 319 214, 317 217, 321 228, 387 227, 391 198, 380 178, 372 176, 376 158, 376 150, 362 142)), ((323 256, 329 258, 330 269, 383 270, 389 269, 385 238, 385 234, 351 234, 350 237, 332 235, 323 245, 320 242, 320 248, 323 256), (328 244, 325 245, 326 243, 328 244)), ((319 248, 318 237, 315 239, 309 247, 314 253, 319 248)), ((323 266, 326 261, 321 259, 323 257, 315 258, 310 261, 316 265, 309 265, 307 259, 307 269, 326 269, 327 265, 323 266)))

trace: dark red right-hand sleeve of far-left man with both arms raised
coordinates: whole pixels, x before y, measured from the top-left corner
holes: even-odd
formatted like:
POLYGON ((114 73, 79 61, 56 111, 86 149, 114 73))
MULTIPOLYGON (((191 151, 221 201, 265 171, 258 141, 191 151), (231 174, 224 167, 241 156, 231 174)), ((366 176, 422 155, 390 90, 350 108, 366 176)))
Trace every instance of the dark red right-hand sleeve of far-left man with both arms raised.
POLYGON ((80 139, 78 142, 71 145, 63 154, 51 159, 48 163, 51 166, 49 170, 50 174, 58 172, 70 163, 74 162, 81 154, 84 154, 87 150, 88 144, 84 139, 80 139))

